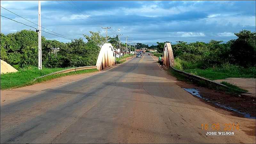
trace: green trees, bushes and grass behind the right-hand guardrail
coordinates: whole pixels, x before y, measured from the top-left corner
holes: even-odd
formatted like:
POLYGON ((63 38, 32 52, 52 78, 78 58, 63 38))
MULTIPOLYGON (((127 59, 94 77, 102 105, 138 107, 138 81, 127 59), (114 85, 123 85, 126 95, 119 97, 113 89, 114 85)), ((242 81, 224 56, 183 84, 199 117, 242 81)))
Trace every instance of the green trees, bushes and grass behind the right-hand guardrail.
MULTIPOLYGON (((210 80, 230 77, 256 78, 256 34, 242 30, 227 43, 178 42, 172 45, 175 68, 210 80)), ((164 42, 157 42, 163 51, 164 42)), ((160 54, 155 54, 159 56, 160 54)))

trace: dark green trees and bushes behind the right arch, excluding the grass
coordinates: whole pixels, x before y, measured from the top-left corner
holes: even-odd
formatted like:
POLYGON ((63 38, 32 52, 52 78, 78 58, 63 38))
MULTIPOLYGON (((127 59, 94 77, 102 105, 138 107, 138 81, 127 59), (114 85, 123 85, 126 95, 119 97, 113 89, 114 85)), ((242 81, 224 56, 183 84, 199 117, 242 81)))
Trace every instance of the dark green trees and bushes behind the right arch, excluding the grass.
MULTIPOLYGON (((187 44, 187 42, 179 42, 172 45, 173 55, 188 62, 199 63, 201 69, 224 63, 243 67, 255 66, 255 32, 242 30, 235 35, 238 38, 227 43, 214 40, 209 43, 194 42, 187 44)), ((162 43, 158 45, 162 46, 162 43)))

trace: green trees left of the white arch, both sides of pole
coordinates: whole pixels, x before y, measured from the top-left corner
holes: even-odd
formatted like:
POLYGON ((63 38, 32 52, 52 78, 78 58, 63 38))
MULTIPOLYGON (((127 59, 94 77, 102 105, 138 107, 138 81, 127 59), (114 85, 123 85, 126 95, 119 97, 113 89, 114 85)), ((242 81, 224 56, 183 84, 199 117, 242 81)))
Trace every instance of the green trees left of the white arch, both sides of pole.
MULTIPOLYGON (((95 65, 105 38, 99 32, 90 32, 72 42, 46 40, 42 36, 42 63, 44 67, 79 67, 95 65)), ((19 69, 38 65, 38 34, 22 30, 13 34, 1 34, 1 59, 19 69)))

